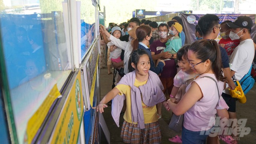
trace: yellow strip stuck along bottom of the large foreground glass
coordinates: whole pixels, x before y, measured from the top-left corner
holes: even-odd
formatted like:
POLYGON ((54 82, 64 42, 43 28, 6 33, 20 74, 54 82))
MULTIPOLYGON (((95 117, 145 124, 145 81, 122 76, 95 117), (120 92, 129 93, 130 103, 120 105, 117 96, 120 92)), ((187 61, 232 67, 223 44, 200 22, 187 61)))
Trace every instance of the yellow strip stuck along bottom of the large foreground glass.
POLYGON ((35 114, 29 119, 27 123, 26 137, 24 138, 25 143, 27 142, 28 144, 30 144, 32 142, 34 136, 38 132, 38 129, 43 124, 43 121, 46 118, 50 107, 52 106, 53 102, 59 97, 59 95, 61 94, 59 93, 57 84, 55 84, 52 90, 47 95, 44 102, 41 104, 35 114))

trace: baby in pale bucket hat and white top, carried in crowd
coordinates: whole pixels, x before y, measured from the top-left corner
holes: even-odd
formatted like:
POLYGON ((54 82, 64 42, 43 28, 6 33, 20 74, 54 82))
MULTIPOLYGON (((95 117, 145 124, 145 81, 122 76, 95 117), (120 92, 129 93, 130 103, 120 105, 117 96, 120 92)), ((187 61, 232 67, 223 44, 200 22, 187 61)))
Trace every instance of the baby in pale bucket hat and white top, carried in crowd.
MULTIPOLYGON (((111 29, 111 35, 113 35, 115 38, 120 38, 121 37, 121 29, 120 27, 118 26, 115 26, 111 29)), ((110 50, 110 59, 112 62, 116 62, 116 63, 119 63, 121 62, 121 52, 122 52, 122 49, 120 49, 119 47, 117 47, 116 45, 114 45, 111 41, 108 42, 108 48, 110 50)))

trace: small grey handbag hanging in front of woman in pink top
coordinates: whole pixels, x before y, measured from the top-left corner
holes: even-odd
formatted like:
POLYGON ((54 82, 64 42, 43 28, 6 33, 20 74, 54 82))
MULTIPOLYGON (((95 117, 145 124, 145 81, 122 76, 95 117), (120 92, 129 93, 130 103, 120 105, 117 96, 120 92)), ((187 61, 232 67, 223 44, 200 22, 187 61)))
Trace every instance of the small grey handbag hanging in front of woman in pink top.
POLYGON ((168 127, 174 130, 175 132, 180 132, 182 124, 183 124, 183 114, 182 115, 172 114, 172 118, 168 127))

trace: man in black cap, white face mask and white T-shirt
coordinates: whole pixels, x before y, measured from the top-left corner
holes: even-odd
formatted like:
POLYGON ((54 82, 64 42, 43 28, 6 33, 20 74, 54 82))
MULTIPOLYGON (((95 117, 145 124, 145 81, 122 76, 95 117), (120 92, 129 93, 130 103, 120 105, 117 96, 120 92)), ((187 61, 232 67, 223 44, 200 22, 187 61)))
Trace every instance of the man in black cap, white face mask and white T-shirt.
MULTIPOLYGON (((235 76, 236 80, 241 80, 250 70, 254 58, 254 43, 250 35, 253 21, 250 17, 240 16, 233 23, 227 23, 227 25, 232 28, 229 37, 232 40, 239 39, 240 41, 230 56, 230 69, 231 75, 235 76)), ((229 118, 236 118, 236 99, 231 97, 227 89, 225 94, 222 93, 222 97, 229 106, 229 118)))

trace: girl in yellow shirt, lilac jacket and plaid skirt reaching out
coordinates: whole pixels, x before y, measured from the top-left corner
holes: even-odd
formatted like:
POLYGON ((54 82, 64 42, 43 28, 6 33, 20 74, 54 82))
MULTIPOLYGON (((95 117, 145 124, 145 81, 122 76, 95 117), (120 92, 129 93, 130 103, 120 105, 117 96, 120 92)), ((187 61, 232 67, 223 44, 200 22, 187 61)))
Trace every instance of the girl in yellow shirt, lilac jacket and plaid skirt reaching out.
POLYGON ((160 144, 161 132, 158 123, 156 104, 166 105, 163 85, 157 74, 149 70, 149 55, 143 49, 131 53, 129 70, 115 88, 113 88, 94 107, 98 112, 104 112, 105 103, 112 100, 111 114, 119 127, 119 117, 126 99, 126 111, 121 137, 125 143, 132 144, 160 144))

